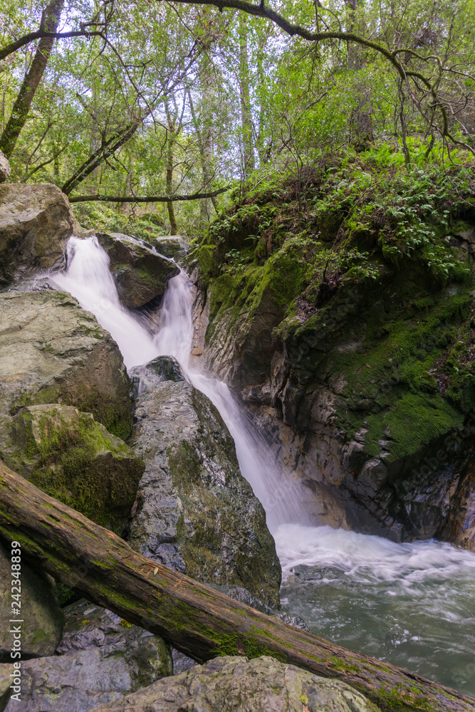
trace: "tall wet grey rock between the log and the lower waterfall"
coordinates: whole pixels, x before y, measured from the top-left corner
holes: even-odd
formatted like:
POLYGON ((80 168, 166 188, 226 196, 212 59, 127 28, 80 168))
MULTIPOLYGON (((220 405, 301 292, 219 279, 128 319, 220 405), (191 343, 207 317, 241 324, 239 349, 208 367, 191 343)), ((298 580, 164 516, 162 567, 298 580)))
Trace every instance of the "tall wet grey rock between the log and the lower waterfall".
POLYGON ((141 389, 129 444, 145 475, 129 543, 199 581, 241 586, 278 607, 281 567, 234 442, 207 397, 184 380, 163 380, 169 362, 132 370, 141 389))

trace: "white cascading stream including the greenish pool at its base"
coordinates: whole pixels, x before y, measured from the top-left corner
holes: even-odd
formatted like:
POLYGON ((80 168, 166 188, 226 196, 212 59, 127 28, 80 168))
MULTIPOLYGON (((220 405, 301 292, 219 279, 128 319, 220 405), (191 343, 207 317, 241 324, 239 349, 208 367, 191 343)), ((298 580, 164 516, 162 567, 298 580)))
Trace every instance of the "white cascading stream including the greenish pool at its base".
POLYGON ((241 472, 266 510, 283 570, 283 609, 321 637, 475 695, 475 554, 437 541, 387 539, 310 526, 303 493, 218 379, 189 365, 192 291, 169 280, 160 329, 120 304, 108 256, 95 237, 71 238, 68 269, 54 280, 113 336, 127 368, 172 355, 219 410, 241 472))

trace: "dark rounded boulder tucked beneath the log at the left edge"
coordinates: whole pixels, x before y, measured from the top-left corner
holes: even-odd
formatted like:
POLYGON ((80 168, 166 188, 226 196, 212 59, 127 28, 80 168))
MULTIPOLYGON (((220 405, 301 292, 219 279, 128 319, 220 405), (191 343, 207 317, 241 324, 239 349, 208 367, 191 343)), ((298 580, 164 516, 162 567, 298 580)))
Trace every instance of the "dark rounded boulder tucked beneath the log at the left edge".
MULTIPOLYGON (((9 662, 13 645, 10 632, 15 616, 11 612, 11 561, 0 547, 0 661, 9 662)), ((53 580, 21 562, 21 654, 52 655, 61 640, 64 615, 53 590, 53 580)))

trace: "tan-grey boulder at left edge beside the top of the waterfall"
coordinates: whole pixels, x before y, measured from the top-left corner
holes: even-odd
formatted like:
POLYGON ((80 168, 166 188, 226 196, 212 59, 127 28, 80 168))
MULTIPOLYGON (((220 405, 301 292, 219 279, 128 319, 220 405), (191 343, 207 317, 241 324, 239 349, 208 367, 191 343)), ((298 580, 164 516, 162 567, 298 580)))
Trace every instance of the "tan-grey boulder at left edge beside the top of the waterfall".
POLYGON ((73 234, 83 233, 58 187, 0 185, 0 288, 61 263, 73 234))

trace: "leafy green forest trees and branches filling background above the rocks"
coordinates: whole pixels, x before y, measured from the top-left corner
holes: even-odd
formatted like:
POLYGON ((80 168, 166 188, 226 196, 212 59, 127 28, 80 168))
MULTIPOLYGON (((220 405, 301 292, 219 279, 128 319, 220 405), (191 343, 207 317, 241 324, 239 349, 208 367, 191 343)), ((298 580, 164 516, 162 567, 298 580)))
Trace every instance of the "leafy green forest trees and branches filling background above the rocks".
POLYGON ((0 150, 12 180, 172 234, 230 185, 328 155, 466 162, 474 17, 473 0, 0 0, 0 150))

